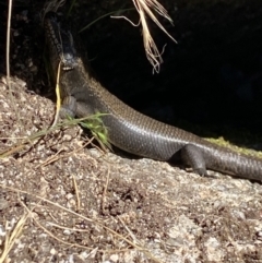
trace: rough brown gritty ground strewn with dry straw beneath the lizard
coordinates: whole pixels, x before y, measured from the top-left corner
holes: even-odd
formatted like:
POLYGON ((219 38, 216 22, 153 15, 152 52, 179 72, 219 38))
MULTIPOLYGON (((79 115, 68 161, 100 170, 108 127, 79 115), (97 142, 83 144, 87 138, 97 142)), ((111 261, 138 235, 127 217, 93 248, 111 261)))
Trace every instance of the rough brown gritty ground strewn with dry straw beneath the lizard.
MULTIPOLYGON (((262 262, 261 183, 212 171, 209 177, 200 177, 120 152, 105 154, 91 145, 80 127, 64 127, 28 140, 51 125, 56 106, 48 98, 53 92, 43 62, 39 19, 32 15, 41 4, 14 3, 12 92, 5 76, 0 80, 0 152, 7 153, 0 160, 3 262, 262 262)), ((117 9, 119 2, 92 4, 86 3, 88 13, 96 16, 109 7, 117 9)), ((243 4, 238 2, 238 7, 243 4)), ((257 2, 251 1, 249 10, 254 7, 257 2)), ((184 9, 204 8, 195 1, 184 9)), ((5 19, 5 10, 2 12, 5 19)), ((194 17, 194 25, 196 21, 194 17)), ((119 23, 114 21, 112 27, 119 23)), ((106 25, 92 27, 90 34, 93 31, 92 36, 97 38, 90 41, 116 34, 105 35, 103 31, 99 35, 98 28, 108 29, 106 25)), ((139 31, 129 28, 130 37, 139 31)), ((98 41, 98 49, 100 45, 98 41)), ((0 47, 4 61, 5 46, 1 43, 0 47)), ((96 51, 93 49, 93 55, 96 51)), ((95 69, 99 56, 92 62, 95 69)), ((142 49, 140 56, 145 60, 142 49)), ((112 68, 121 76, 116 61, 105 63, 104 70, 112 68)), ((124 75, 124 68, 119 67, 124 75)), ((0 69, 4 74, 4 63, 0 69)), ((136 77, 134 74, 128 76, 133 79, 133 86, 144 80, 140 73, 136 77)), ((98 69, 97 75, 100 77, 103 71, 98 69)), ((108 72, 102 79, 107 83, 108 72)), ((109 86, 124 81, 111 80, 109 86)), ((261 146, 255 136, 250 145, 254 144, 261 146)))

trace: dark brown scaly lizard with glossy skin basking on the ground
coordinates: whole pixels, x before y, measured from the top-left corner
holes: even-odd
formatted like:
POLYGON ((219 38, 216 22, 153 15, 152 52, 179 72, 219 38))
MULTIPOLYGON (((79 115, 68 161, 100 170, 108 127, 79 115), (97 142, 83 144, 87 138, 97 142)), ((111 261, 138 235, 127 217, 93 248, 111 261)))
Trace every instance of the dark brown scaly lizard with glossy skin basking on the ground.
POLYGON ((59 86, 62 107, 70 116, 105 112, 108 140, 131 154, 174 163, 181 159, 194 172, 207 169, 246 179, 262 180, 262 159, 216 145, 193 133, 152 119, 109 93, 90 73, 87 61, 75 47, 70 29, 55 12, 44 19, 46 41, 53 72, 61 63, 59 86))

